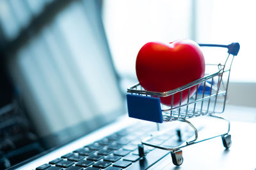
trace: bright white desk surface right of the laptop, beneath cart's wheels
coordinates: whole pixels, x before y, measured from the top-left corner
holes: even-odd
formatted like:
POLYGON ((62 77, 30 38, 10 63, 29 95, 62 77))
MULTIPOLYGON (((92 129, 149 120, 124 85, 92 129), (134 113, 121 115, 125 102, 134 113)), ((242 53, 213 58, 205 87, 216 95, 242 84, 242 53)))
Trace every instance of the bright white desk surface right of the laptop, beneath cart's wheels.
POLYGON ((231 121, 232 146, 228 150, 218 137, 182 148, 184 162, 180 167, 175 167, 168 155, 152 169, 256 169, 256 124, 252 123, 256 108, 228 106, 226 112, 233 120, 250 121, 231 121))

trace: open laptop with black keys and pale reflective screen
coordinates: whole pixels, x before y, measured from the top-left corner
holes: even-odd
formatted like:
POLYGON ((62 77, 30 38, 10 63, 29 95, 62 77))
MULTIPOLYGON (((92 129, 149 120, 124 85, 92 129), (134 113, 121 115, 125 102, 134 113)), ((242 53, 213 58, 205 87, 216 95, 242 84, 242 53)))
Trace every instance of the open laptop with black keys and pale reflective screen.
MULTIPOLYGON (((128 117, 127 86, 111 59, 99 3, 63 1, 58 9, 53 3, 49 6, 53 12, 42 11, 49 18, 42 20, 39 16, 33 22, 44 24, 34 32, 24 31, 26 35, 18 38, 22 43, 13 41, 8 46, 12 51, 6 71, 16 100, 1 113, 21 112, 19 120, 24 121, 17 124, 23 132, 17 140, 20 145, 14 143, 10 152, 1 153, 1 169, 179 168, 170 163, 168 150, 144 146, 141 151, 141 140, 167 127, 168 135, 153 141, 155 145, 165 141, 179 145, 194 134, 179 122, 159 127, 128 117), (180 137, 180 131, 186 138, 180 137)), ((185 155, 185 169, 196 166, 189 161, 196 149, 187 150, 190 155, 185 155)), ((204 146, 199 150, 204 151, 204 146)), ((220 152, 223 150, 220 148, 220 152)))

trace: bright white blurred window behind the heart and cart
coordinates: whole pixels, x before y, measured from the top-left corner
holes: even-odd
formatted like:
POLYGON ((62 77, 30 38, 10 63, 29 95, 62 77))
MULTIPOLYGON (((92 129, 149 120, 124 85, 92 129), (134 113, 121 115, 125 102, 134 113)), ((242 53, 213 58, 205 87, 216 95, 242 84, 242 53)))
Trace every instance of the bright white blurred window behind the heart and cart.
MULTIPOLYGON (((108 0, 104 2, 104 24, 116 69, 122 77, 136 81, 135 60, 148 41, 170 42, 189 38, 198 43, 239 42, 230 81, 256 82, 255 1, 164 1, 108 0)), ((221 60, 224 55, 214 55, 221 60)), ((208 56, 205 56, 207 58, 208 56)), ((215 58, 216 57, 216 58, 215 58)), ((209 59, 206 59, 209 60, 209 59)))

